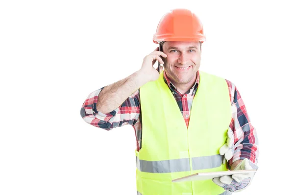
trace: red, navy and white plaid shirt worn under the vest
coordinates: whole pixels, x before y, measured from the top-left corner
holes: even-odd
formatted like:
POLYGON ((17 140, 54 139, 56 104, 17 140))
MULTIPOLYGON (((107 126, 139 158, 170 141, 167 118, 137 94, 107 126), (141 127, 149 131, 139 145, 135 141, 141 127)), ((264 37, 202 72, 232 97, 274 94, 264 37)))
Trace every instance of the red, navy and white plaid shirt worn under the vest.
MULTIPOLYGON (((165 72, 164 81, 169 86, 188 127, 192 101, 196 94, 199 83, 199 72, 197 72, 197 79, 194 86, 189 91, 187 91, 186 94, 181 94, 176 90, 165 72)), ((232 129, 235 138, 235 152, 233 158, 229 161, 229 165, 231 165, 236 160, 244 158, 247 158, 253 163, 257 163, 259 151, 257 147, 258 139, 256 130, 250 122, 245 104, 236 86, 228 80, 226 80, 226 82, 228 85, 232 105, 232 120, 230 122, 229 128, 232 129)), ((98 96, 103 88, 104 87, 94 91, 85 100, 81 108, 82 118, 85 122, 105 130, 111 130, 115 127, 123 126, 125 124, 132 125, 135 130, 135 136, 137 140, 137 151, 139 151, 142 142, 140 89, 129 96, 120 107, 110 113, 104 114, 98 112, 96 109, 98 96)))

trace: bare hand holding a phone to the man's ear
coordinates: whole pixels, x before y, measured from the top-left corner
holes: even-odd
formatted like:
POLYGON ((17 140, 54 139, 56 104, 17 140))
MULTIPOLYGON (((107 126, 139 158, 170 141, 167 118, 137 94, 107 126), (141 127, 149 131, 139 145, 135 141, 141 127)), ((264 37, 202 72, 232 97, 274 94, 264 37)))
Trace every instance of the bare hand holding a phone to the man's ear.
MULTIPOLYGON (((159 48, 157 47, 153 52, 151 52, 149 55, 145 56, 143 60, 143 64, 141 69, 138 71, 144 79, 149 81, 155 81, 159 77, 158 71, 153 67, 156 61, 159 61, 160 64, 164 64, 164 61, 161 59, 161 57, 167 57, 168 55, 165 54, 162 51, 159 51, 159 48)), ((160 71, 162 70, 162 67, 160 66, 160 71)))

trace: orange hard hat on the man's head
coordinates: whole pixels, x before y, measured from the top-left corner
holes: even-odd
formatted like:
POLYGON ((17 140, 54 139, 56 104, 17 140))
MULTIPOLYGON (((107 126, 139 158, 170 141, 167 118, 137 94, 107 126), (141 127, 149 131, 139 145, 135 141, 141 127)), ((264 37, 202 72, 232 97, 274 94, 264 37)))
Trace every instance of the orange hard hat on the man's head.
POLYGON ((173 9, 166 13, 157 25, 153 42, 205 41, 202 23, 188 9, 173 9))

